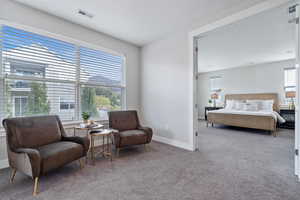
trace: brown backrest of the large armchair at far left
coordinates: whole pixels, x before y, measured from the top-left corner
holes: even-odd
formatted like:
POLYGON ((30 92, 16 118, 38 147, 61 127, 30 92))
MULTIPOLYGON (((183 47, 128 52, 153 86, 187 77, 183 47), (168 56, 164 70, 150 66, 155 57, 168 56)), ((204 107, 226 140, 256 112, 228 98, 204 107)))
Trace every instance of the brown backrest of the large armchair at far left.
POLYGON ((61 140, 58 116, 18 117, 3 120, 10 148, 36 148, 61 140))

